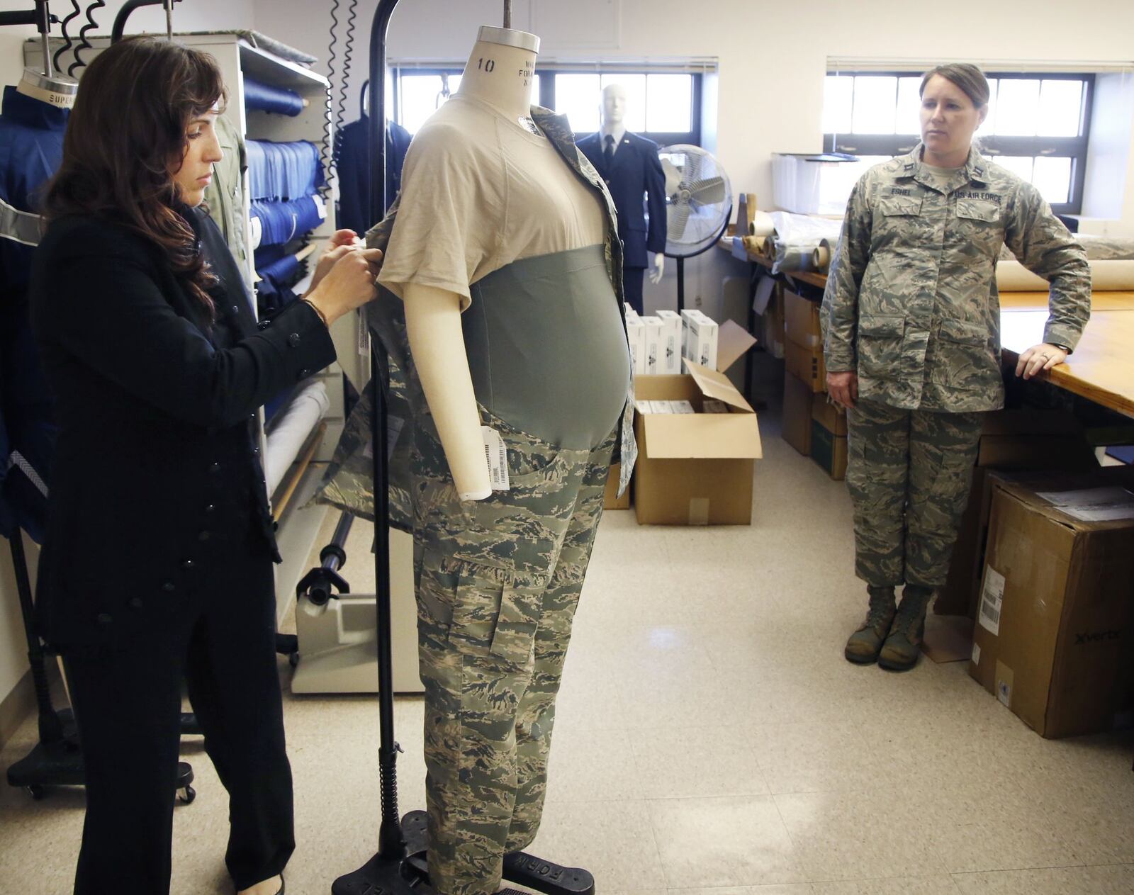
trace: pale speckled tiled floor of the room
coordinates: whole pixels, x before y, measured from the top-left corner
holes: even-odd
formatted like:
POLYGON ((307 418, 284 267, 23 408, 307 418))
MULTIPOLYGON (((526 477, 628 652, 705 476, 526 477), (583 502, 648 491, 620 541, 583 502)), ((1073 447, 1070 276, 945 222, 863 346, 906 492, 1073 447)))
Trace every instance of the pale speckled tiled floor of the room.
MULTIPOLYGON (((964 664, 844 661, 863 611, 846 492, 762 424, 751 527, 603 520, 533 851, 589 868, 602 895, 1134 893, 1134 736, 1044 741, 964 664)), ((352 543, 364 590, 364 526, 352 543)), ((286 709, 288 892, 323 895, 375 846, 376 707, 286 709)), ((396 717, 408 810, 423 802, 421 700, 396 717)), ((200 746, 185 751, 200 795, 177 810, 174 892, 223 893, 223 791, 200 746)), ((0 788, 0 890, 69 892, 82 807, 0 788)))

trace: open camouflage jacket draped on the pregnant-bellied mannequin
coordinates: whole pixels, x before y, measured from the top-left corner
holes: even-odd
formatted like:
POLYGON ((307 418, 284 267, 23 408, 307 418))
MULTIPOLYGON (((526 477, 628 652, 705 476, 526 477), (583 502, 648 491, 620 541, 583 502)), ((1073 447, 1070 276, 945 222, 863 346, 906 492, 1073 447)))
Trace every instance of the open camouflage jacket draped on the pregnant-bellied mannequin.
MULTIPOLYGON (((575 135, 567 123, 567 117, 556 115, 539 105, 532 107, 532 119, 548 136, 552 145, 562 155, 564 161, 592 189, 602 195, 607 209, 607 273, 618 296, 619 310, 625 297, 623 293, 623 246, 618 240, 618 217, 615 202, 602 178, 586 157, 575 146, 575 135)), ((400 199, 400 196, 399 196, 400 199)), ((393 231, 393 221, 398 214, 398 201, 390 206, 389 213, 381 222, 366 233, 366 245, 371 248, 386 250, 393 231)), ((623 318, 625 329, 625 316, 623 318)), ((382 289, 376 302, 366 306, 366 320, 370 328, 378 333, 386 348, 389 362, 389 386, 387 389, 388 419, 390 422, 389 441, 387 445, 390 473, 390 523, 399 529, 411 531, 413 512, 411 488, 413 470, 411 450, 413 445, 413 427, 415 424, 432 425, 425 395, 413 365, 409 343, 406 338, 406 319, 401 302, 397 296, 382 289)), ((627 351, 629 351, 627 346, 627 351)), ((371 457, 371 415, 374 404, 373 386, 365 392, 355 406, 347 421, 342 438, 336 448, 335 457, 323 479, 321 492, 316 499, 337 506, 364 518, 374 517, 373 475, 371 457)), ((634 462, 637 459, 637 445, 634 441, 634 373, 631 372, 631 385, 626 404, 619 422, 620 439, 615 449, 615 462, 621 463, 621 478, 618 493, 621 495, 629 484, 634 462)))

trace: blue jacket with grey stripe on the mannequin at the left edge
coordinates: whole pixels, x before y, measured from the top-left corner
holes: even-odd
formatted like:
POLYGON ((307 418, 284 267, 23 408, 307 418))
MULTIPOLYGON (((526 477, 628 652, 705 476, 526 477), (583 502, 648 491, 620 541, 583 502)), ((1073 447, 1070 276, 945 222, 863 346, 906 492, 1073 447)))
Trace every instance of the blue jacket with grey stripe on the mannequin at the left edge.
POLYGON ((41 236, 39 189, 62 159, 70 112, 8 86, 0 115, 0 535, 42 542, 54 422, 27 321, 27 280, 41 236))

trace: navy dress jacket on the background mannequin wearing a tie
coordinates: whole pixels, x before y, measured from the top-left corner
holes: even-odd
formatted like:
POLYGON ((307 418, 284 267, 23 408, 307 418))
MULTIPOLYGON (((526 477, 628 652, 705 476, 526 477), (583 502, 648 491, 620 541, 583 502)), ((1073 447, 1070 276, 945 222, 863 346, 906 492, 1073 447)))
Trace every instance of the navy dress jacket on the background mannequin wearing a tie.
POLYGON ((613 196, 618 209, 618 238, 625 246, 624 267, 650 267, 649 254, 666 251, 666 174, 658 158, 658 144, 627 132, 609 171, 602 158, 601 133, 583 137, 578 147, 602 175, 613 196))

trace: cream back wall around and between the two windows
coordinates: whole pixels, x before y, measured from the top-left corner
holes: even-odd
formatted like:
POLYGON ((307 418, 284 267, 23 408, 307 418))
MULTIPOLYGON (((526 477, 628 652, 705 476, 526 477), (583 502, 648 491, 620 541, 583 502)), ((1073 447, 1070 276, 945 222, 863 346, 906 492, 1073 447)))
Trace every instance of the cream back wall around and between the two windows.
MULTIPOLYGON (((649 59, 710 56, 720 60, 717 154, 734 191, 755 192, 770 204, 772 152, 814 152, 821 147, 820 115, 827 58, 885 57, 1114 61, 1134 58, 1134 3, 1083 0, 1067 7, 1035 0, 955 0, 947 23, 917 7, 883 0, 818 0, 806 11, 797 5, 718 0, 689 6, 688 0, 516 0, 513 25, 535 27, 568 9, 572 20, 604 22, 611 8, 618 27, 595 28, 589 43, 566 44, 540 28, 543 58, 649 59), (773 90, 769 90, 773 86, 773 90)), ((255 0, 260 29, 323 59, 330 28, 329 6, 255 0)), ((366 47, 375 0, 358 2, 356 41, 347 119, 358 108, 357 92, 366 74, 366 47)), ((401 0, 390 23, 389 54, 406 59, 464 60, 479 25, 499 25, 499 0, 401 0)), ((574 27, 573 31, 577 31, 574 27)), ((320 64, 322 66, 322 62, 320 64)), ((325 67, 322 67, 325 73, 325 67)), ((1129 128, 1123 151, 1129 153, 1129 128)), ((1127 178, 1134 186, 1134 168, 1127 178)), ((1127 191, 1129 194, 1129 189, 1127 191)), ((1134 233, 1134 197, 1127 196, 1115 223, 1091 229, 1134 233)), ((723 252, 712 250, 686 265, 686 295, 703 299, 706 311, 720 307, 720 280, 743 272, 723 252)), ((670 273, 660 286, 646 282, 648 306, 670 306, 676 286, 670 273)))

